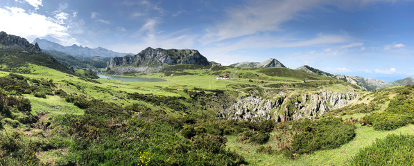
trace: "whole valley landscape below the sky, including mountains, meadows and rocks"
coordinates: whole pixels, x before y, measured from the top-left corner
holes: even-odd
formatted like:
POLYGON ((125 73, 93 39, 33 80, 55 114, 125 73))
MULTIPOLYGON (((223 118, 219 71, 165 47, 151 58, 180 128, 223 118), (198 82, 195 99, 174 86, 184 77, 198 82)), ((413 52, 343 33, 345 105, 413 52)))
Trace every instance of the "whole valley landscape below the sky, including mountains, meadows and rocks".
POLYGON ((221 66, 162 48, 98 68, 0 44, 0 165, 414 162, 409 78, 374 90, 276 59, 221 66), (124 80, 137 78, 151 81, 124 80))

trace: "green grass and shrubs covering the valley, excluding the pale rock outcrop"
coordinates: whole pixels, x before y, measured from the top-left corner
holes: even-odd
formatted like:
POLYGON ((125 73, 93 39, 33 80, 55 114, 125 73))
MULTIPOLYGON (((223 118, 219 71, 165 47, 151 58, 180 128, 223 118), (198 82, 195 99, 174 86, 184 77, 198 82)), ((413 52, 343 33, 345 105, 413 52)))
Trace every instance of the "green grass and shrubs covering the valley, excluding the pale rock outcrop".
POLYGON ((178 65, 139 75, 166 80, 157 84, 91 80, 33 64, 24 70, 28 74, 0 72, 0 165, 408 165, 413 161, 414 86, 368 93, 288 68, 178 65), (232 79, 214 80, 223 75, 232 79), (312 120, 277 123, 216 116, 225 100, 245 95, 271 98, 304 89, 363 95, 312 120))

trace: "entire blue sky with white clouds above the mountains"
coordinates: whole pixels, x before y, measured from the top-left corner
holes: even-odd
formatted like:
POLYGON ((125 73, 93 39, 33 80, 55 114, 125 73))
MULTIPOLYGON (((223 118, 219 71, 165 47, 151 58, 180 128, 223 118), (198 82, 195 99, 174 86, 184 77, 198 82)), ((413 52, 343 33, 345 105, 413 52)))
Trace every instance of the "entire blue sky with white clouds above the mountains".
POLYGON ((275 58, 392 82, 414 77, 413 9, 408 0, 1 0, 0 31, 120 53, 190 48, 223 65, 275 58))

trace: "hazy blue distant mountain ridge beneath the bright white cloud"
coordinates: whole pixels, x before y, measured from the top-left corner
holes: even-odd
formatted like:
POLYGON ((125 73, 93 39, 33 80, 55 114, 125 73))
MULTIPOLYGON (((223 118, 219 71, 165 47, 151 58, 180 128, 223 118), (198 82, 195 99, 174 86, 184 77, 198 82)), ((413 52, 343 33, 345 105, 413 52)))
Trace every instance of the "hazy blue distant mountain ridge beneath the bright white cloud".
POLYGON ((62 46, 55 42, 50 42, 46 39, 35 39, 33 43, 39 44, 40 48, 43 50, 55 50, 75 57, 121 57, 127 55, 126 53, 117 53, 112 50, 107 50, 102 47, 98 48, 88 48, 83 46, 77 46, 76 44, 72 46, 62 46))

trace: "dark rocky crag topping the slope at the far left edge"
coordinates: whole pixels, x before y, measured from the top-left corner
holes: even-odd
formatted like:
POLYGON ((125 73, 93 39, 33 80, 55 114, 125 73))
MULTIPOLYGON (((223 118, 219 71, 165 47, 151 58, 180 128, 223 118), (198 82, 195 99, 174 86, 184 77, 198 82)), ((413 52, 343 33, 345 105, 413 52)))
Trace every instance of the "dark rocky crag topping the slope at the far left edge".
POLYGON ((26 39, 15 36, 15 35, 8 35, 7 33, 1 31, 0 32, 0 45, 6 46, 6 47, 13 47, 17 46, 20 48, 23 48, 24 50, 34 53, 34 52, 42 52, 42 50, 39 48, 39 45, 31 44, 26 39))

